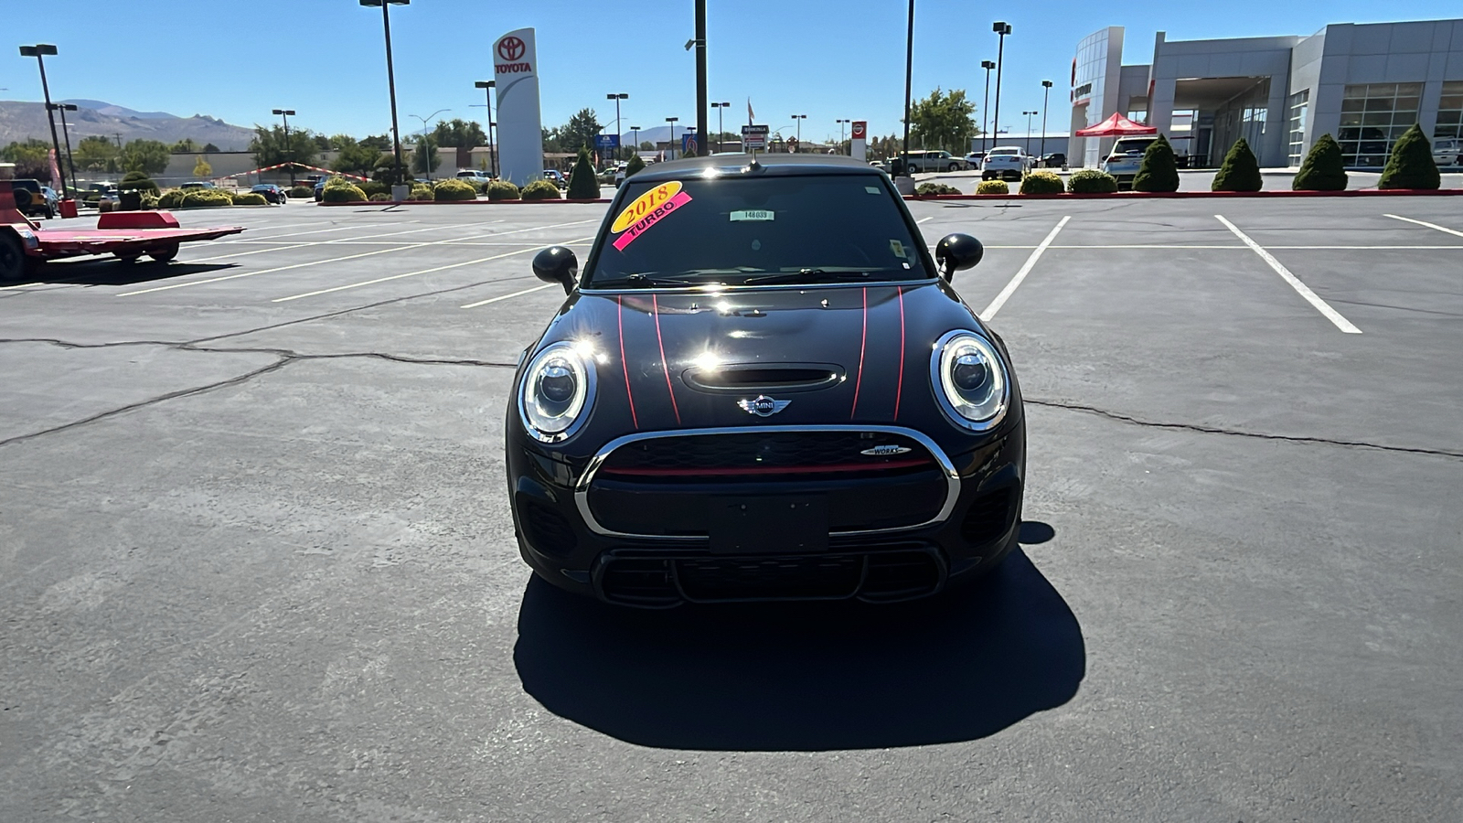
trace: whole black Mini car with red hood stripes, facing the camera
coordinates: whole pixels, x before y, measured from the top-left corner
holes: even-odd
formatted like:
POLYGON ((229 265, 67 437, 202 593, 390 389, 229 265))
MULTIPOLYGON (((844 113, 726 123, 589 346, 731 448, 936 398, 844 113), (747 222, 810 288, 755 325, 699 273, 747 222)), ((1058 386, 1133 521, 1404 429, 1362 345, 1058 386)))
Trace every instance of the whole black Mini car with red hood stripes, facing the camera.
POLYGON ((612 603, 923 597, 1021 520, 1002 344, 890 177, 843 157, 655 164, 617 192, 530 346, 506 423, 524 559, 612 603))

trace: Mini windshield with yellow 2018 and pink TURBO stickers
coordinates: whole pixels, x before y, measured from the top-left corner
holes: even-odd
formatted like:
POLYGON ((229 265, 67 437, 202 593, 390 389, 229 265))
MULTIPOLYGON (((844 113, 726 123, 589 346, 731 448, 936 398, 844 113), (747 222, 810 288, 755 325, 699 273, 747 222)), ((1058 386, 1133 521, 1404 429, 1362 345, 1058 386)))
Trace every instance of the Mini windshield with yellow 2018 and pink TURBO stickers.
POLYGON ((932 277, 882 174, 688 173, 625 190, 585 288, 932 277))

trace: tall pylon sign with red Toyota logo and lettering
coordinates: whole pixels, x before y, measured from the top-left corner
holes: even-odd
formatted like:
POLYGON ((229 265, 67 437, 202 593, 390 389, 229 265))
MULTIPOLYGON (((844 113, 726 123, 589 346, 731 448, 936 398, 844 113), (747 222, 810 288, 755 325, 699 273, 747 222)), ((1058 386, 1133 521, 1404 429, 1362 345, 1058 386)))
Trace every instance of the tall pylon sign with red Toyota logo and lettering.
POLYGON ((511 31, 493 42, 493 79, 497 86, 497 167, 505 180, 527 186, 543 177, 544 170, 534 29, 511 31))

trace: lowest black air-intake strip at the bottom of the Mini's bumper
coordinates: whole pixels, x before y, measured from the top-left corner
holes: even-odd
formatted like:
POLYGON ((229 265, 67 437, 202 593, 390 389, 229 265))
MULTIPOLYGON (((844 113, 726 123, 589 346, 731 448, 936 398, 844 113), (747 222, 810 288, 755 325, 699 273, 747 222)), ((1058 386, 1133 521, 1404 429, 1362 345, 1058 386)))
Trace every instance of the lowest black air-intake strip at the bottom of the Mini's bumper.
POLYGON ((945 562, 925 543, 860 552, 777 556, 644 556, 614 552, 603 562, 604 599, 635 606, 736 600, 895 602, 939 590, 945 562))

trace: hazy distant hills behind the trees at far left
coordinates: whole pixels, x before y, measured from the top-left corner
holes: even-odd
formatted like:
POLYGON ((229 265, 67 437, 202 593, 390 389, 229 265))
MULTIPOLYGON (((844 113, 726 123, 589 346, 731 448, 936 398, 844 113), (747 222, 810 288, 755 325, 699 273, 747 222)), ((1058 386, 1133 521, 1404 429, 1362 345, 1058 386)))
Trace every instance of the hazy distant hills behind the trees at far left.
MULTIPOLYGON (((243 151, 249 148, 249 141, 255 136, 253 129, 234 126, 206 114, 174 117, 165 111, 133 111, 101 100, 70 100, 66 103, 78 105, 76 111, 66 113, 73 146, 82 138, 94 135, 107 139, 121 135, 121 142, 148 139, 176 144, 189 138, 198 145, 214 144, 222 151, 243 151)), ((45 104, 0 101, 0 145, 28 138, 51 139, 45 104)))

